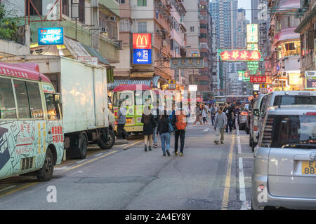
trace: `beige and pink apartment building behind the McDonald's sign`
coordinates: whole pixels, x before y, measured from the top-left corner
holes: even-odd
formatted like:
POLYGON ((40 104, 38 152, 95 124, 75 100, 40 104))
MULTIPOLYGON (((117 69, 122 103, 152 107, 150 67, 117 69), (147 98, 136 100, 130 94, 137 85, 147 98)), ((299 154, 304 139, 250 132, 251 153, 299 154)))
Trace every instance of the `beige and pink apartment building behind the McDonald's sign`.
MULTIPOLYGON (((185 6, 182 0, 121 0, 119 24, 123 53, 114 70, 114 85, 147 80, 154 88, 166 89, 168 80, 178 87, 188 83, 187 71, 171 70, 170 57, 185 55, 185 6), (150 34, 151 64, 133 62, 133 34, 150 34)), ((149 41, 149 40, 147 40, 149 41)))

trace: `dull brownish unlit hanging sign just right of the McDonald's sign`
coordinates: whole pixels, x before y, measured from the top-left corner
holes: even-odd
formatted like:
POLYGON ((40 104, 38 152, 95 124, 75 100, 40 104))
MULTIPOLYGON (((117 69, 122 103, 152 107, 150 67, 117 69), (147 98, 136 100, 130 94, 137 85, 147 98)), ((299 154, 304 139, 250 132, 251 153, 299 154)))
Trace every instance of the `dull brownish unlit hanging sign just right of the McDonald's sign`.
POLYGON ((170 69, 203 69, 203 57, 171 57, 170 69))

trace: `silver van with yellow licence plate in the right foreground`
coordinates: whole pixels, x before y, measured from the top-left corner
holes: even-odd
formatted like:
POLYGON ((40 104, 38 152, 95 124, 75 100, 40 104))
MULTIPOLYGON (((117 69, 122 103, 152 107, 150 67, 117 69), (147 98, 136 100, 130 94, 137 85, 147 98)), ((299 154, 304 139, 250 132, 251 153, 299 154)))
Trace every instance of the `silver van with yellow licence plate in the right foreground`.
POLYGON ((254 153, 252 209, 316 209, 316 106, 274 106, 254 153))

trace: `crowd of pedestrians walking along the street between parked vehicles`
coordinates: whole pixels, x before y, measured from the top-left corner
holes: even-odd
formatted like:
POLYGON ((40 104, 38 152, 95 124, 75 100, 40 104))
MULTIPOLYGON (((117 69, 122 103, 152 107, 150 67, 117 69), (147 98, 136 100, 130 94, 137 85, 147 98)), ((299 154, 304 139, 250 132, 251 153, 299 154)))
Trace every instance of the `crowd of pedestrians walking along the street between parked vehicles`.
MULTIPOLYGON (((119 104, 121 105, 121 104, 119 104)), ((124 130, 126 123, 126 116, 124 116, 124 109, 121 111, 119 106, 118 112, 118 128, 119 137, 126 139, 128 134, 124 130)), ((216 106, 216 104, 197 103, 195 111, 196 125, 208 125, 208 120, 211 120, 211 125, 215 131, 215 144, 224 144, 225 133, 228 134, 236 129, 237 115, 240 111, 239 105, 234 102, 227 102, 223 105, 216 106)), ((171 111, 169 111, 171 112, 171 111)), ((167 113, 166 110, 157 106, 157 109, 152 110, 150 106, 145 106, 144 113, 141 118, 143 123, 144 135, 144 149, 145 152, 152 151, 153 148, 158 148, 158 136, 162 143, 163 156, 170 156, 170 142, 171 136, 174 135, 174 155, 183 156, 185 146, 185 132, 188 118, 190 115, 186 114, 184 110, 175 111, 175 106, 172 107, 172 112, 167 113), (178 153, 180 139, 180 153, 178 153)))

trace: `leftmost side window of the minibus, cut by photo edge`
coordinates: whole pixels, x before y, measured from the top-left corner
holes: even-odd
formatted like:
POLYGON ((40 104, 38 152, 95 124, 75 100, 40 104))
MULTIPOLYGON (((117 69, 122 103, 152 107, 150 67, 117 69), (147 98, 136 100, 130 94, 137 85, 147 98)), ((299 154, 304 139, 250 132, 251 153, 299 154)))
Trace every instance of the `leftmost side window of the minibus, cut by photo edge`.
POLYGON ((17 118, 12 82, 10 78, 0 78, 0 118, 17 118))

